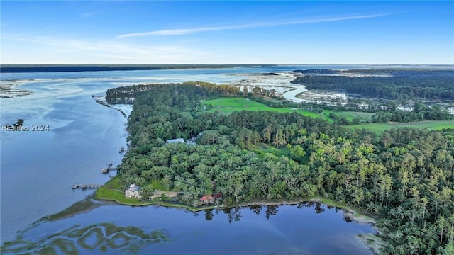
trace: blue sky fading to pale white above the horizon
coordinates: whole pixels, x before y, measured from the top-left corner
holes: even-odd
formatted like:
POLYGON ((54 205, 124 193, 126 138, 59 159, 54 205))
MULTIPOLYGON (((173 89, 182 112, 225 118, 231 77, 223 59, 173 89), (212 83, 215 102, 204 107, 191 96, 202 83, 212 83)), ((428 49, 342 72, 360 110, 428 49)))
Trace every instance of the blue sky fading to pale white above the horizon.
POLYGON ((6 64, 454 64, 454 1, 1 1, 6 64))

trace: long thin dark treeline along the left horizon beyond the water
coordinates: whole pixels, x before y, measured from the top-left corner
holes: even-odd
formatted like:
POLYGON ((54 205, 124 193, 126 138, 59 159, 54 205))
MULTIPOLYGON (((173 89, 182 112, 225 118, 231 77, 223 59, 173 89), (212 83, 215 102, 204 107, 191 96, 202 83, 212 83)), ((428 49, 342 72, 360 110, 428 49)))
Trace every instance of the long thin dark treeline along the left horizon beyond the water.
MULTIPOLYGON (((249 65, 240 65, 241 67, 249 65)), ((226 68, 239 67, 238 64, 2 64, 1 73, 16 72, 94 72, 94 71, 132 71, 159 69, 190 69, 190 68, 226 68)))

